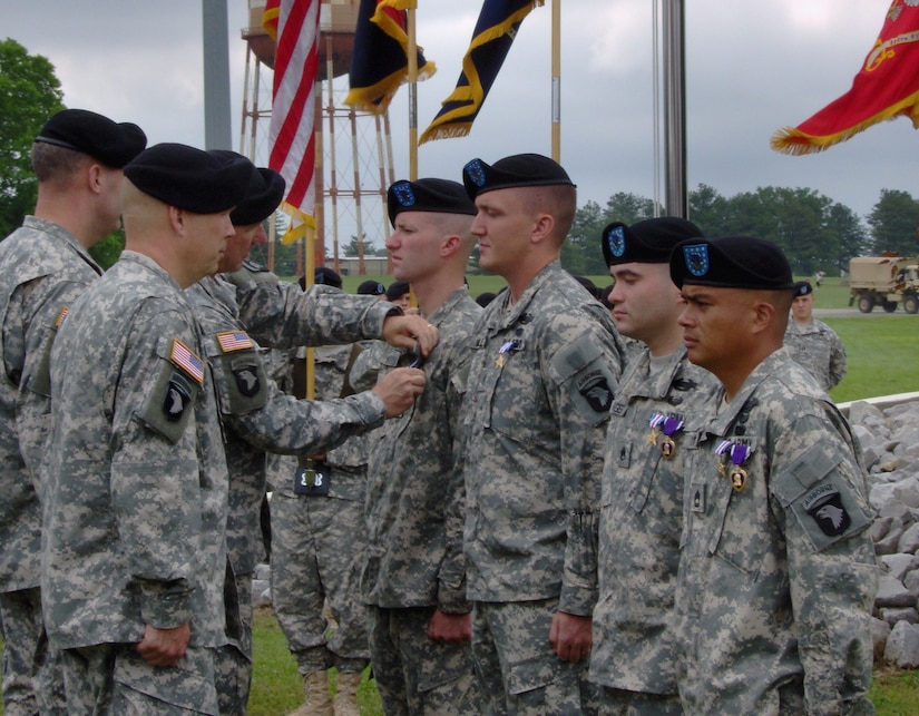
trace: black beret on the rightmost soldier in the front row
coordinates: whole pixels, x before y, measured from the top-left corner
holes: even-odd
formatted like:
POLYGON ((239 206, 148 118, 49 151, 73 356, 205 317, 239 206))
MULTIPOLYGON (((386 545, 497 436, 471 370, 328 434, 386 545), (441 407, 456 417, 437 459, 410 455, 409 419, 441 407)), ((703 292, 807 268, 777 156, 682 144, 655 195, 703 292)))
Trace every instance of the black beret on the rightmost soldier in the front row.
POLYGON ((677 244, 671 254, 671 278, 683 284, 753 288, 791 290, 791 266, 772 242, 753 236, 691 238, 677 244))

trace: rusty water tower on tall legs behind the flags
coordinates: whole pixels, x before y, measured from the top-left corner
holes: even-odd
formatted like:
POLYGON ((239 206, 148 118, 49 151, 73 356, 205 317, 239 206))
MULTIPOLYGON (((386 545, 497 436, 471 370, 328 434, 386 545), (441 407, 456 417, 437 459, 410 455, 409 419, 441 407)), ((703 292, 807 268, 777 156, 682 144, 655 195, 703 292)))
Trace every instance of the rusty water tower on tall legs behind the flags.
MULTIPOLYGON (((239 151, 264 166, 268 156, 272 68, 275 42, 262 28, 265 0, 247 0, 248 27, 243 88, 239 151)), ((330 264, 339 273, 368 273, 363 242, 382 246, 389 233, 387 187, 394 180, 389 115, 355 111, 343 104, 354 46, 360 0, 322 0, 320 6, 320 63, 314 126, 316 156, 316 265, 330 264), (355 266, 340 265, 340 247, 358 238, 355 266), (330 254, 326 262, 324 255, 330 254)), ((297 273, 303 271, 297 248, 297 273)), ((274 241, 267 263, 274 268, 274 241)), ((350 263, 350 262, 349 262, 350 263)), ((370 273, 389 273, 385 259, 370 273)))

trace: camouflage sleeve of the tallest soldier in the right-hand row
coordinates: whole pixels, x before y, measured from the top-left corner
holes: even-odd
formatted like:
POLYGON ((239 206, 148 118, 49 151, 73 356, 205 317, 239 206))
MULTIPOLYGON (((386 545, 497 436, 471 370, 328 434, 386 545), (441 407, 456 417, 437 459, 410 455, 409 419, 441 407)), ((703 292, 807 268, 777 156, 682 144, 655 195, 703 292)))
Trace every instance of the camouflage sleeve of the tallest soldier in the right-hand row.
POLYGON ((612 333, 589 317, 556 322, 563 339, 551 357, 549 401, 558 424, 568 511, 559 611, 589 616, 597 600, 597 542, 603 451, 609 408, 622 374, 612 333), (596 512, 595 512, 596 510, 596 512))

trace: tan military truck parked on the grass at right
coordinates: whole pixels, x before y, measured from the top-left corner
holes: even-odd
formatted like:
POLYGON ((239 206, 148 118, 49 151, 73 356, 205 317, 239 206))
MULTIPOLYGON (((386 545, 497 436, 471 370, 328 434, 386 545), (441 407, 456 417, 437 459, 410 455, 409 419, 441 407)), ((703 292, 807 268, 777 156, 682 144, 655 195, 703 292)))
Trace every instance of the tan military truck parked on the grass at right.
POLYGON ((849 261, 849 305, 871 313, 879 305, 888 313, 919 311, 919 265, 906 256, 859 256, 849 261))

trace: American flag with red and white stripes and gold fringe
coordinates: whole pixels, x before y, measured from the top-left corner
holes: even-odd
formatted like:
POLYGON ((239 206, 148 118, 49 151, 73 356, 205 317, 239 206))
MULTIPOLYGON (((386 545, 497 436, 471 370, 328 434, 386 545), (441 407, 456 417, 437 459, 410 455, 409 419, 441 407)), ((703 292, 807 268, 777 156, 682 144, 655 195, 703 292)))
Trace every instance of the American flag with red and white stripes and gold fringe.
POLYGON ((316 163, 313 133, 319 69, 320 0, 268 0, 262 26, 277 42, 272 91, 268 166, 287 183, 281 208, 291 226, 281 239, 291 244, 315 227, 316 163))

